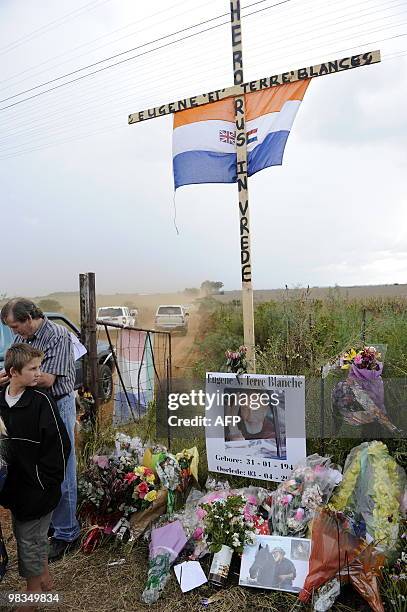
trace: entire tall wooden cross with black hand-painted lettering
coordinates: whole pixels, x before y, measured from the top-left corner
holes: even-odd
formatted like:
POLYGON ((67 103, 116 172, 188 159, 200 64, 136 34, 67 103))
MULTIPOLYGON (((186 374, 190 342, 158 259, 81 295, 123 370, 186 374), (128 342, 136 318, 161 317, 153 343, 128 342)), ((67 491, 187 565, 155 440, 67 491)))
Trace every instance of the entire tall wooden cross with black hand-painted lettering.
POLYGON ((253 287, 252 287, 252 263, 251 263, 251 240, 250 240, 250 217, 249 217, 249 192, 247 174, 247 135, 245 129, 245 95, 246 93, 277 87, 285 83, 293 83, 304 79, 310 79, 326 74, 334 74, 352 68, 368 66, 380 62, 380 51, 368 51, 344 57, 341 59, 324 62, 315 66, 307 66, 297 70, 290 70, 282 74, 259 79, 257 81, 244 82, 243 78, 243 52, 242 52, 242 28, 240 22, 240 0, 231 0, 230 18, 232 28, 232 57, 233 57, 233 81, 232 87, 217 89, 199 96, 192 96, 163 104, 155 108, 138 111, 129 115, 129 124, 154 119, 188 108, 195 108, 204 104, 218 102, 224 98, 234 98, 235 126, 236 126, 236 166, 237 186, 239 194, 239 217, 240 217, 240 265, 242 281, 242 305, 243 305, 243 330, 244 343, 248 348, 247 361, 249 371, 255 372, 254 355, 254 309, 253 309, 253 287))

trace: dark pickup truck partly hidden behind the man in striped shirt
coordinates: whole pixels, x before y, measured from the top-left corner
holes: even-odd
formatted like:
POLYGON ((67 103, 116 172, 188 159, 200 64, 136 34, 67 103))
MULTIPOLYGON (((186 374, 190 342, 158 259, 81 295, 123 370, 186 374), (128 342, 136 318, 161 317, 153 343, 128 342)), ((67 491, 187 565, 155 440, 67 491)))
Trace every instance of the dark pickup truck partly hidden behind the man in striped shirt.
MULTIPOLYGON (((55 321, 59 325, 63 325, 74 334, 77 338, 80 338, 80 331, 76 327, 75 323, 72 323, 65 315, 59 312, 46 312, 46 317, 51 321, 55 321)), ((0 370, 4 367, 4 355, 8 347, 13 343, 13 333, 7 325, 4 325, 0 320, 0 370)), ((113 394, 113 371, 114 361, 109 345, 105 342, 98 342, 98 363, 99 363, 99 398, 103 402, 110 400, 113 394)), ((83 384, 83 372, 82 372, 83 357, 75 361, 76 367, 76 378, 75 378, 75 389, 83 384)))

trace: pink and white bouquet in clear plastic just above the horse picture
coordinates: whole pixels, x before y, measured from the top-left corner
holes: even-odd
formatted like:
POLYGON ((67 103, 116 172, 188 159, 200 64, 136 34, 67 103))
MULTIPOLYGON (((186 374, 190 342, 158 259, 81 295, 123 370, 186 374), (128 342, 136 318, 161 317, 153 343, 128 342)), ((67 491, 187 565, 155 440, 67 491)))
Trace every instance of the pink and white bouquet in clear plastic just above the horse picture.
POLYGON ((271 495, 273 533, 304 537, 318 508, 328 501, 342 475, 329 457, 311 455, 271 495))

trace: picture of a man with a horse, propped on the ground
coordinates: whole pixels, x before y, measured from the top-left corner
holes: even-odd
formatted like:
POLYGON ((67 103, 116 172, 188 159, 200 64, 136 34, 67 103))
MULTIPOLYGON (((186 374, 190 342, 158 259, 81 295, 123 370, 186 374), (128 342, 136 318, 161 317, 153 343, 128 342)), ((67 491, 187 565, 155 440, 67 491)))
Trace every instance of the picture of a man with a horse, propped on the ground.
POLYGON ((298 593, 308 574, 311 540, 281 536, 256 536, 245 546, 239 584, 259 589, 298 593))

